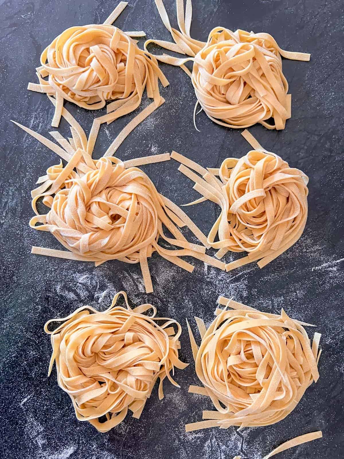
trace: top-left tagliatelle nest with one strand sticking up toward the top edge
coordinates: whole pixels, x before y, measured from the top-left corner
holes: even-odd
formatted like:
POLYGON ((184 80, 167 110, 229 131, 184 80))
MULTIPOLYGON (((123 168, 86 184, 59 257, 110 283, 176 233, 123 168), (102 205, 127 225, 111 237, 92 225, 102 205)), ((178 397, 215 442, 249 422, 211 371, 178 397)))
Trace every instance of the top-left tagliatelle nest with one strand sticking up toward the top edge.
POLYGON ((54 95, 52 126, 60 123, 64 100, 88 110, 114 101, 107 106, 106 115, 94 120, 94 129, 133 112, 145 88, 154 99, 150 112, 161 105, 158 80, 163 86, 168 81, 156 58, 140 50, 131 38, 144 36, 144 32, 122 32, 111 25, 127 4, 121 2, 104 24, 68 28, 42 52, 41 66, 36 69, 39 84, 29 83, 28 89, 54 95))

